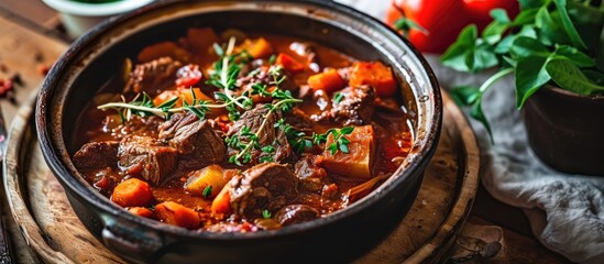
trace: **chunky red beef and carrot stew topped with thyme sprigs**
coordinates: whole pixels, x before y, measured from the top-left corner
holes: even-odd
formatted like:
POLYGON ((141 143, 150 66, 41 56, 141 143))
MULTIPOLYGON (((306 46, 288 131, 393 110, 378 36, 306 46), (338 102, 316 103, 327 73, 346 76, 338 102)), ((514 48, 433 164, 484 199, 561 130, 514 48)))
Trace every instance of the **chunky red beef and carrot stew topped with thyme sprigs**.
POLYGON ((388 65, 305 40, 189 29, 127 58, 118 82, 81 113, 74 164, 129 212, 187 229, 325 217, 413 143, 388 65))

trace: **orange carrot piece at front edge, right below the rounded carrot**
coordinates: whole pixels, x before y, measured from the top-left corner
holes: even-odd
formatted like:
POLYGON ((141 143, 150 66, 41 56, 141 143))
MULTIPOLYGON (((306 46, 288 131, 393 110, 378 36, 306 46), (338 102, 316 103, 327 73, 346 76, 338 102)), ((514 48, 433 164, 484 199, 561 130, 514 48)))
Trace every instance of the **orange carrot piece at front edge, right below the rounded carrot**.
POLYGON ((155 206, 155 216, 162 222, 187 229, 199 228, 199 213, 174 201, 164 201, 155 206))

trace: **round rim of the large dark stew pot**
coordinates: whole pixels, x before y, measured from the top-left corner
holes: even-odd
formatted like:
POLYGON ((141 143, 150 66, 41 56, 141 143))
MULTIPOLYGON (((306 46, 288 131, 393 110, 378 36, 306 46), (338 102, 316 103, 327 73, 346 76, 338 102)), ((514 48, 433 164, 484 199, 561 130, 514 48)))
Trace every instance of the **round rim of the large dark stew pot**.
MULTIPOLYGON (((426 165, 432 157, 433 153, 436 152, 436 147, 438 145, 439 138, 440 138, 441 124, 442 124, 442 98, 440 95, 440 87, 438 85, 437 78, 431 67, 429 66, 425 57, 407 40, 405 40, 400 34, 398 34, 394 29, 387 26, 384 22, 377 20, 376 18, 362 13, 351 7, 348 7, 334 1, 321 1, 321 0, 292 0, 292 1, 260 0, 260 1, 255 1, 254 3, 273 2, 273 3, 279 3, 279 4, 295 4, 299 7, 311 7, 315 9, 330 10, 330 12, 337 13, 338 15, 354 18, 362 21, 365 25, 370 24, 372 26, 375 26, 382 34, 385 34, 388 37, 396 40, 397 44, 405 46, 409 51, 409 53, 406 53, 403 55, 404 56, 410 55, 409 59, 415 61, 415 64, 417 64, 418 68, 421 70, 421 73, 418 73, 418 74, 420 74, 425 79, 427 79, 427 84, 426 84, 427 86, 431 86, 431 87, 428 87, 430 91, 429 96, 430 98, 433 98, 433 100, 431 100, 432 105, 430 105, 432 108, 431 116, 424 118, 426 119, 426 125, 427 125, 427 128, 425 128, 426 131, 424 131, 425 134, 424 136, 421 136, 420 142, 418 142, 417 139, 414 142, 414 148, 416 150, 417 154, 414 154, 414 155, 409 154, 409 156, 405 160, 405 164, 402 165, 393 174, 393 176, 391 176, 385 183, 382 183, 380 187, 377 187, 375 190, 372 191, 372 194, 353 202, 351 206, 342 210, 332 212, 326 216, 325 218, 295 224, 292 227, 282 228, 278 230, 259 231, 259 232, 250 232, 250 233, 198 232, 196 230, 187 230, 184 228, 162 223, 160 221, 136 217, 131 213, 123 213, 124 212, 123 208, 111 202, 107 197, 101 196, 98 191, 96 191, 89 185, 84 185, 83 183, 84 179, 81 179, 81 177, 78 177, 79 174, 76 174, 78 175, 76 176, 68 168, 69 166, 73 166, 70 157, 69 156, 65 157, 66 154, 61 152, 61 150, 57 150, 57 147, 55 146, 56 142, 53 142, 53 136, 55 138, 63 136, 63 135, 56 135, 57 132, 52 131, 53 123, 55 124, 55 127, 58 125, 61 128, 61 122, 53 120, 53 118, 51 117, 52 111, 50 111, 50 109, 53 108, 53 106, 48 107, 46 106, 45 102, 48 101, 50 98, 53 98, 53 96, 56 96, 55 90, 56 90, 56 87, 58 86, 57 81, 64 75, 67 75, 63 73, 74 63, 73 61, 77 58, 78 54, 81 53, 83 51, 87 51, 87 46, 90 43, 102 37, 103 33, 106 33, 107 31, 109 31, 110 29, 112 29, 113 26, 122 22, 128 22, 129 20, 135 19, 140 14, 150 13, 150 12, 161 12, 162 8, 171 4, 178 4, 179 2, 185 2, 185 1, 171 1, 171 0, 156 1, 134 12, 129 12, 123 15, 119 15, 119 16, 114 16, 109 20, 106 20, 95 29, 90 30, 87 34, 76 40, 74 44, 68 48, 68 51, 62 55, 62 57, 57 61, 57 63, 55 63, 55 65, 52 67, 48 74, 48 77, 45 79, 43 84, 43 88, 40 90, 37 102, 36 102, 36 109, 37 109, 36 130, 39 133, 39 140, 41 142, 41 146, 42 146, 46 163, 48 164, 53 173, 57 175, 57 178, 61 179, 62 184, 68 186, 70 190, 77 194, 78 199, 87 200, 89 204, 95 205, 102 211, 108 212, 112 216, 121 213, 122 216, 120 217, 125 218, 128 221, 141 224, 146 228, 151 228, 154 230, 160 230, 166 233, 175 234, 175 235, 178 235, 179 238, 186 238, 191 240, 207 239, 207 240, 213 240, 213 241, 261 240, 261 239, 274 239, 276 237, 286 237, 295 233, 303 233, 306 231, 323 228, 334 222, 339 222, 351 216, 358 215, 363 209, 369 208, 376 202, 380 202, 380 200, 384 196, 386 196, 388 193, 392 193, 397 185, 400 185, 402 183, 406 182, 414 174, 420 173, 422 175, 422 172, 418 172, 418 170, 424 169, 426 167, 426 165)), ((238 1, 197 1, 197 2, 212 2, 212 3, 220 2, 221 4, 227 4, 227 3, 234 4, 238 1)), ((314 19, 317 19, 317 18, 314 18, 314 19)), ((429 99, 426 99, 426 101, 421 101, 418 98, 419 98, 419 95, 416 95, 415 103, 429 101, 429 99)), ((62 106, 55 106, 55 107, 59 108, 59 110, 62 108, 62 106)), ((420 112, 419 116, 422 113, 420 112)), ((418 117, 418 121, 421 118, 418 117)))

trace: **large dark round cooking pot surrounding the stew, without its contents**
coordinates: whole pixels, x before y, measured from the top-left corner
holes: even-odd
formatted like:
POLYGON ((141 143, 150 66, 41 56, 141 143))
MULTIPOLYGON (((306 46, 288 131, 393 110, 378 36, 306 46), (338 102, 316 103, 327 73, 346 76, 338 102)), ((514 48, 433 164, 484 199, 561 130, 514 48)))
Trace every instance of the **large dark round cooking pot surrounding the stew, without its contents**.
POLYGON ((84 224, 133 262, 348 262, 374 248, 402 221, 419 189, 441 130, 439 86, 425 59, 382 22, 331 1, 160 1, 114 18, 78 38, 51 69, 36 105, 46 163, 84 224), (190 26, 237 28, 316 41, 360 59, 393 66, 415 130, 398 170, 349 208, 316 221, 255 233, 210 233, 135 217, 95 190, 76 170, 73 133, 95 94, 118 76, 124 57, 190 26))

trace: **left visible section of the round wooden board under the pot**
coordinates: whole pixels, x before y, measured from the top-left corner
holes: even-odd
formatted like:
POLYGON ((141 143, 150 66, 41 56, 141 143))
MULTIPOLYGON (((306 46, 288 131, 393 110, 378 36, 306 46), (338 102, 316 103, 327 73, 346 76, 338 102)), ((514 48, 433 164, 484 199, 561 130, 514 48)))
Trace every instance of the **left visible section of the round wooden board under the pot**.
POLYGON ((45 263, 124 263, 79 221, 50 172, 35 139, 32 102, 14 117, 9 134, 6 186, 12 217, 29 246, 45 263))

